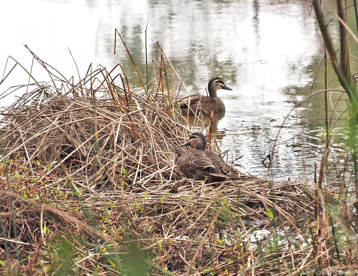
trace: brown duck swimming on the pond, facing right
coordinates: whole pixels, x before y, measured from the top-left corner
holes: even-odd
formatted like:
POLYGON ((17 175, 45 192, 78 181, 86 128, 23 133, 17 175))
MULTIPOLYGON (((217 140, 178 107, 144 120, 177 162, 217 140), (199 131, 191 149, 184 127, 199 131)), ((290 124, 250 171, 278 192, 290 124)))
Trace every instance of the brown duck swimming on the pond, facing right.
MULTIPOLYGON (((219 89, 226 89, 232 90, 231 88, 227 87, 221 78, 215 77, 209 80, 208 90, 209 90, 209 97, 208 96, 200 96, 194 95, 189 96, 187 99, 184 99, 182 104, 180 104, 180 109, 183 112, 183 115, 194 115, 195 112, 197 114, 204 113, 201 108, 205 109, 208 114, 211 114, 211 110, 213 113, 222 113, 225 112, 225 105, 223 101, 217 96, 216 91, 219 89), (190 107, 189 107, 189 99, 190 99, 190 107)), ((205 113, 204 113, 205 114, 205 113)))

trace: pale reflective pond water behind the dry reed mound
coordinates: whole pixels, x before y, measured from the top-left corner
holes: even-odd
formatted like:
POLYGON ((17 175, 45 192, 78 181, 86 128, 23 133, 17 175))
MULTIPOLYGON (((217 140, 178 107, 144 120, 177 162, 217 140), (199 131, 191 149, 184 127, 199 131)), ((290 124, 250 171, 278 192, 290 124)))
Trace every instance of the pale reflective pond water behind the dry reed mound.
MULTIPOLYGON (((6 2, 7 10, 16 8, 24 16, 18 16, 15 26, 6 30, 8 43, 0 46, 2 68, 8 55, 19 57, 29 68, 29 55, 19 50, 27 44, 66 77, 77 75, 72 57, 65 52, 69 47, 80 72, 86 72, 90 62, 107 68, 121 63, 131 85, 138 87, 140 81, 118 37, 113 54, 114 33, 117 28, 144 76, 144 30, 148 24, 150 66, 151 60, 160 60, 158 41, 192 94, 202 92, 216 76, 233 89, 218 91, 226 113, 216 117, 214 124, 222 151, 231 149, 233 159, 242 156, 235 166, 261 177, 307 175, 308 181, 312 180, 313 164, 320 161, 324 147, 323 96, 292 110, 310 93, 323 58, 310 1, 37 0, 16 7, 12 1, 6 2), (34 20, 29 27, 26 14, 33 14, 32 9, 46 20, 34 20), (71 20, 64 19, 64 14, 71 20), (261 161, 274 145, 271 175, 261 161)), ((334 1, 324 5, 332 14, 334 1)), ((4 10, 0 23, 8 25, 5 22, 13 20, 4 10)), ((13 81, 26 82, 28 76, 16 70, 18 76, 13 81)), ((338 87, 330 74, 330 86, 338 87)), ((48 80, 45 72, 43 80, 48 80)), ((10 85, 10 80, 2 84, 0 92, 10 85)), ((314 91, 320 88, 321 83, 316 82, 314 91)), ((180 95, 186 95, 183 89, 180 95)), ((332 101, 338 96, 333 94, 332 101)))

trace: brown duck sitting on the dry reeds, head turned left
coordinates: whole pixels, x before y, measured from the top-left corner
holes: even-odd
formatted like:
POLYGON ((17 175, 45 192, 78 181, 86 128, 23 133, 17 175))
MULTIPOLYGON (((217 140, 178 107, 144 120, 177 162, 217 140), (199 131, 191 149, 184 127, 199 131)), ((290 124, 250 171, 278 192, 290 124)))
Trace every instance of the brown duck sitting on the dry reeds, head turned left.
POLYGON ((180 171, 185 176, 196 180, 207 179, 208 183, 228 179, 223 158, 214 152, 206 151, 207 142, 203 133, 193 133, 188 142, 180 146, 192 146, 194 148, 185 152, 176 161, 180 171))

